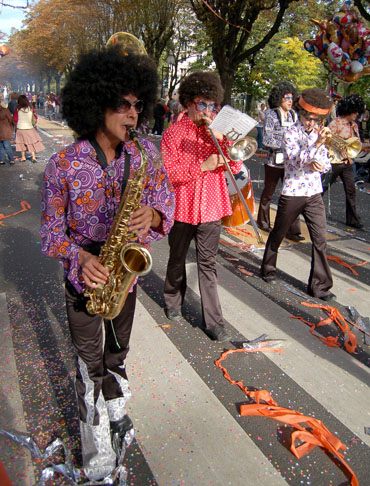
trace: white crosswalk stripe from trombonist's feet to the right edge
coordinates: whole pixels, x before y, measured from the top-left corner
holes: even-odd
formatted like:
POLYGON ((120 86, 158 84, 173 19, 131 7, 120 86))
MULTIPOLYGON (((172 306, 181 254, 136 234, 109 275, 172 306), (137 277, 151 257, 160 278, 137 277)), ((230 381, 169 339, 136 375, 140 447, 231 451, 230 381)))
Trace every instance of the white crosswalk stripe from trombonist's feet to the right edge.
MULTIPOLYGON (((295 262, 297 256, 291 255, 289 261, 292 258, 295 262)), ((302 259, 299 264, 303 265, 302 259)), ((199 295, 196 264, 188 264, 186 270, 188 286, 199 295)), ((233 288, 229 292, 222 285, 218 287, 225 319, 247 339, 264 333, 270 338, 286 339, 285 352, 270 353, 269 359, 370 445, 370 437, 364 432, 369 422, 369 369, 345 351, 330 348, 313 337, 306 324, 291 319, 288 312, 268 297, 260 294, 259 309, 255 300, 254 305, 248 305, 246 286, 240 284, 240 279, 220 265, 217 271, 219 282, 227 281, 227 288, 233 288), (275 322, 278 320, 279 327, 268 316, 273 316, 275 322)), ((258 291, 252 288, 250 292, 258 291)))

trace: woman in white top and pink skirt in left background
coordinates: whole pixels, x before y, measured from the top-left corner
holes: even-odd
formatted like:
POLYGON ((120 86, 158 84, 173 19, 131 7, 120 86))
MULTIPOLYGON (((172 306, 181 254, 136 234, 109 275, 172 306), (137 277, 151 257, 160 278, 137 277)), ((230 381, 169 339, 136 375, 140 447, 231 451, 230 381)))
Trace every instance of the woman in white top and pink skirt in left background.
POLYGON ((26 162, 26 152, 31 152, 32 162, 37 162, 36 154, 45 150, 45 147, 35 129, 37 115, 25 95, 18 97, 14 121, 17 125, 15 149, 17 152, 21 152, 21 162, 26 162))

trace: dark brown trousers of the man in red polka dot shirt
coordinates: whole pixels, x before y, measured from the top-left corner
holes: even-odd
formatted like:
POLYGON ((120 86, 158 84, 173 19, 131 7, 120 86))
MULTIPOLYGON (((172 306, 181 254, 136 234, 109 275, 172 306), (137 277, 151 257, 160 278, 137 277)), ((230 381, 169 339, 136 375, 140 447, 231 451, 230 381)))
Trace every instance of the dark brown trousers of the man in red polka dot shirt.
POLYGON ((175 221, 168 236, 170 256, 164 285, 166 307, 180 310, 184 302, 186 255, 190 242, 194 238, 203 325, 206 329, 225 325, 217 292, 216 255, 220 233, 221 221, 197 225, 175 221))

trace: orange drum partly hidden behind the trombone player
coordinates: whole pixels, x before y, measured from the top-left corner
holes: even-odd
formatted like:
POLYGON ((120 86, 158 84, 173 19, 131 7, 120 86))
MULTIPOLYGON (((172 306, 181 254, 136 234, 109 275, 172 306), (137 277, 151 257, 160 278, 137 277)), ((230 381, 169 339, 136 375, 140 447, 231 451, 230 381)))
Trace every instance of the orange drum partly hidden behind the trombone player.
MULTIPOLYGON (((227 183, 227 188, 229 190, 230 202, 233 208, 233 214, 231 216, 225 216, 222 218, 222 225, 226 228, 236 228, 237 226, 242 226, 248 223, 249 216, 245 210, 243 203, 240 201, 238 193, 231 181, 230 175, 225 172, 225 179, 227 183)), ((255 216, 256 208, 254 204, 253 186, 252 180, 250 178, 249 170, 243 165, 242 170, 238 174, 234 174, 234 179, 240 189, 243 197, 247 203, 247 206, 253 215, 255 216)))

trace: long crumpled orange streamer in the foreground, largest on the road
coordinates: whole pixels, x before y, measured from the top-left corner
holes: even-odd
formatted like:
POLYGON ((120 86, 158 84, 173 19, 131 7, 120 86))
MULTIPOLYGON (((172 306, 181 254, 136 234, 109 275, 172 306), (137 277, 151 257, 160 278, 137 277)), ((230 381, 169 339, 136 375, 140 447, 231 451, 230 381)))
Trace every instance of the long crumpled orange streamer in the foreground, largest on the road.
POLYGON ((296 430, 292 433, 292 443, 290 450, 295 457, 300 459, 308 454, 314 447, 318 446, 326 449, 332 453, 344 466, 346 472, 351 478, 351 486, 359 486, 358 479, 354 471, 344 460, 344 454, 339 452, 345 451, 346 446, 333 435, 325 425, 320 421, 312 417, 305 416, 296 410, 289 408, 279 407, 275 400, 271 397, 267 390, 250 391, 243 384, 242 381, 232 380, 226 368, 221 365, 221 362, 227 358, 230 354, 244 352, 283 352, 282 349, 272 349, 267 346, 258 349, 229 349, 222 353, 221 357, 215 361, 215 365, 220 368, 224 374, 224 377, 232 384, 237 385, 248 397, 255 400, 256 403, 244 404, 240 406, 240 415, 242 416, 259 416, 268 417, 278 422, 291 425, 296 430), (261 403, 264 401, 265 403, 261 403), (301 424, 305 423, 307 428, 301 424), (299 446, 296 446, 296 441, 302 442, 299 446))

